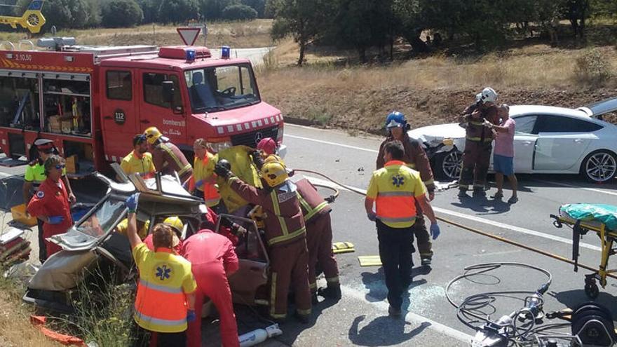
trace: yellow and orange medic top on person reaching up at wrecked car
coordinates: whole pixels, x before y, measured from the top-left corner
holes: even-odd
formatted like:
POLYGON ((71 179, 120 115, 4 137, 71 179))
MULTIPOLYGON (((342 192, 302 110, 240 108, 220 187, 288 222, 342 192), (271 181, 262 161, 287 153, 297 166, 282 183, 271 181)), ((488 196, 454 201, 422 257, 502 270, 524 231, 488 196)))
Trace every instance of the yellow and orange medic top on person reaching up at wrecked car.
POLYGON ((191 263, 159 248, 148 250, 145 243, 133 249, 140 271, 135 297, 135 322, 151 332, 184 332, 187 329, 186 295, 197 288, 191 263))

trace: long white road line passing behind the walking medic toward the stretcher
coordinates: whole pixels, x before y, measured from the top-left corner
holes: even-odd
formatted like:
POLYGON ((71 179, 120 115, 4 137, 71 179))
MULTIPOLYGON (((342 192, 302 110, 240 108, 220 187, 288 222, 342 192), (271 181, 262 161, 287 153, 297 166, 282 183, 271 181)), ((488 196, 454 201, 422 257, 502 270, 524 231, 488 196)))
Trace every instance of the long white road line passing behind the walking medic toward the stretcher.
MULTIPOLYGON (((326 186, 335 186, 335 187, 337 187, 337 189, 348 190, 348 189, 345 189, 344 187, 341 187, 341 186, 339 186, 337 184, 334 184, 332 182, 326 181, 324 179, 315 179, 315 178, 310 177, 310 176, 306 176, 306 177, 308 178, 309 181, 313 182, 313 184, 323 184, 323 185, 326 185, 326 186)), ((353 186, 350 186, 349 188, 355 189, 357 191, 363 191, 364 193, 366 193, 365 189, 355 188, 353 186)), ((466 215, 466 214, 461 213, 461 212, 447 210, 447 209, 441 208, 441 207, 433 206, 433 211, 442 213, 444 215, 450 215, 450 216, 453 216, 453 217, 467 219, 467 220, 470 220, 470 221, 473 221, 473 222, 477 222, 477 223, 482 223, 482 224, 488 224, 488 225, 491 225, 491 226, 496 226, 497 228, 500 228, 500 229, 516 231, 518 233, 525 233, 527 235, 538 236, 538 237, 541 237, 541 238, 546 238, 548 240, 553 240, 553 241, 557 241, 557 242, 560 242, 560 243, 566 243, 567 245, 571 245, 572 244, 572 240, 569 239, 569 238, 562 238, 560 236, 554 236, 554 235, 550 235, 548 233, 541 233, 540 231, 535 231, 535 230, 531 230, 531 229, 521 228, 520 226, 514 226, 514 225, 510 225, 510 224, 495 222, 495 221, 493 221, 491 219, 485 219, 485 218, 476 217, 476 216, 472 216, 472 215, 466 215)), ((589 243, 581 243, 580 246, 583 247, 583 248, 587 248, 588 250, 595 250, 595 251, 598 251, 598 252, 602 251, 602 248, 597 247, 595 245, 590 245, 589 243)))

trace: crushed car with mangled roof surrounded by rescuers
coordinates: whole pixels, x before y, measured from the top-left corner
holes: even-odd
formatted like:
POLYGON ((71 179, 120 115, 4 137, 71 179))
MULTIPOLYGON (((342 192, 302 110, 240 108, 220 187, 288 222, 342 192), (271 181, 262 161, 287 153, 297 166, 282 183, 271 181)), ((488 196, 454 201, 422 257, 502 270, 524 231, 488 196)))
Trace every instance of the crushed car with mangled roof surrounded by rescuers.
MULTIPOLYGON (((148 233, 158 222, 177 216, 184 222, 183 238, 196 233, 208 213, 203 200, 191 196, 182 188, 177 177, 158 175, 151 179, 131 175, 125 182, 117 183, 95 174, 107 184, 107 193, 86 215, 66 233, 49 240, 62 251, 53 254, 32 277, 23 300, 51 311, 72 313, 72 303, 79 298, 79 287, 86 283, 104 280, 111 284, 134 283, 137 278, 128 238, 115 231, 126 218, 128 209, 124 201, 140 192, 137 221, 149 222, 148 233)), ((233 301, 238 304, 268 304, 267 273, 269 258, 251 219, 231 215, 229 219, 247 232, 239 237, 236 245, 240 269, 229 279, 233 301)))

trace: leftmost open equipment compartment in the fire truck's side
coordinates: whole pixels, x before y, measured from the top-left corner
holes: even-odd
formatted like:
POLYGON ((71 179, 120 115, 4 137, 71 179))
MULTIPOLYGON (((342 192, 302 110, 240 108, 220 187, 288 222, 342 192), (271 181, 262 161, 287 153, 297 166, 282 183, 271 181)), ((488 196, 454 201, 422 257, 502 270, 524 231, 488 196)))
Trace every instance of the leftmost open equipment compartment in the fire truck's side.
POLYGON ((39 82, 26 77, 0 77, 0 126, 40 130, 39 82))

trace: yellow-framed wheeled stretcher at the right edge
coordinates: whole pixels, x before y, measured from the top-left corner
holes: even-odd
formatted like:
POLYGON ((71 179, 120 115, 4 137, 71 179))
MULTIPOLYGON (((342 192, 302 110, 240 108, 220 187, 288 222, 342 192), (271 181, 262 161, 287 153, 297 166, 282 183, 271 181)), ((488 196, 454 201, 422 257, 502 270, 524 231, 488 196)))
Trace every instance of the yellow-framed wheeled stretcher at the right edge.
POLYGON ((604 288, 606 287, 606 276, 611 273, 617 273, 617 268, 608 268, 609 258, 611 255, 617 253, 617 249, 613 248, 613 243, 617 239, 617 230, 609 229, 606 224, 600 222, 598 219, 588 217, 576 219, 571 217, 563 208, 560 208, 560 215, 550 215, 550 217, 554 219, 553 225, 557 228, 562 228, 562 226, 566 224, 572 229, 572 260, 574 261, 575 272, 578 271, 578 250, 581 236, 589 231, 597 233, 602 250, 600 264, 597 271, 585 275, 585 294, 591 299, 595 299, 599 294, 596 281, 604 288))

